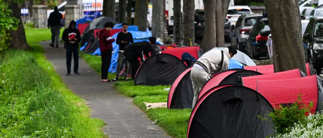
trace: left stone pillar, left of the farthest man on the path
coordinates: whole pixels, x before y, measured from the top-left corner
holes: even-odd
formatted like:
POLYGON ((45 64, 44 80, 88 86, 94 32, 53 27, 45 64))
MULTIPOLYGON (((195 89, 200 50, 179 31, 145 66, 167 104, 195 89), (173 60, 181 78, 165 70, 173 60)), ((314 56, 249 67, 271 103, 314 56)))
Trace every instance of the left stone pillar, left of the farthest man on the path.
POLYGON ((33 5, 33 18, 35 28, 47 28, 47 6, 33 5))

